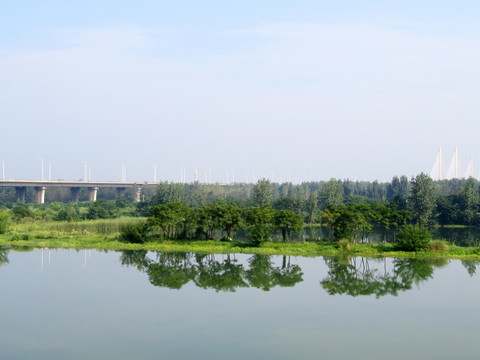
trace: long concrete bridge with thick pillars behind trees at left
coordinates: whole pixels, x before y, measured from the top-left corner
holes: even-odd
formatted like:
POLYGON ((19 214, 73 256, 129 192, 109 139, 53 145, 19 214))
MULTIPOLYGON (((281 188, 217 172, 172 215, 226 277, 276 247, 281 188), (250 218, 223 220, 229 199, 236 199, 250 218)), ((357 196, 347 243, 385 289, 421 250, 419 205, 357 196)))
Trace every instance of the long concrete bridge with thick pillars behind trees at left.
POLYGON ((116 188, 119 197, 125 196, 127 188, 135 189, 135 201, 140 201, 143 186, 156 186, 157 183, 138 183, 138 182, 121 182, 121 181, 63 181, 63 180, 0 180, 0 187, 15 188, 15 197, 17 201, 25 202, 27 187, 35 189, 35 202, 39 204, 45 203, 45 192, 51 187, 67 187, 70 188, 72 200, 79 200, 81 188, 88 189, 88 198, 90 201, 97 200, 99 188, 116 188))

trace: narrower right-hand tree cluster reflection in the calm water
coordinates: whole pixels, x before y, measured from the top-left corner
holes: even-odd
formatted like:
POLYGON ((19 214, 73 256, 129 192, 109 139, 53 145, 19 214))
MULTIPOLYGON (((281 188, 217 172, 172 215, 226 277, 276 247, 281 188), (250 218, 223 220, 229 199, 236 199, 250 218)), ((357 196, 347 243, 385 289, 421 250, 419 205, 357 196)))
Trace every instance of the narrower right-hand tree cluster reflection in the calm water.
POLYGON ((412 285, 433 278, 435 267, 448 264, 447 259, 394 259, 393 270, 387 272, 386 259, 384 270, 370 269, 367 258, 325 258, 328 275, 320 284, 330 294, 350 296, 385 295, 397 296, 399 291, 406 291, 412 285))

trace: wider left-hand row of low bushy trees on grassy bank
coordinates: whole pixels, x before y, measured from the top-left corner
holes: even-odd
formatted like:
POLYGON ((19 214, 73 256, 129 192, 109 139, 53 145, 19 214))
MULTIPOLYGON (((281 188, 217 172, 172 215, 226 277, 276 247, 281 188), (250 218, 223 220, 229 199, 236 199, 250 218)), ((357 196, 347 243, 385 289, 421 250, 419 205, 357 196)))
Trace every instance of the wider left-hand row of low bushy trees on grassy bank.
POLYGON ((181 202, 169 202, 150 208, 146 220, 126 225, 121 239, 143 243, 150 239, 214 239, 221 231, 222 240, 232 241, 235 231, 247 227, 256 245, 270 240, 275 230, 289 241, 293 232, 303 226, 302 217, 291 210, 275 210, 269 204, 240 208, 219 199, 196 208, 181 202))

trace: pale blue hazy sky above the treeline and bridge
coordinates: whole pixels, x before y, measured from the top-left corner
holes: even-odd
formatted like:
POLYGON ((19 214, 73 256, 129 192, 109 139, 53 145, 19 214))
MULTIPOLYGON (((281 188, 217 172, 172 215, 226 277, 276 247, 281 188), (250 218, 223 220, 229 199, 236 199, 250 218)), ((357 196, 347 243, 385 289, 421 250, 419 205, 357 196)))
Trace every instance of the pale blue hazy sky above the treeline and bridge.
POLYGON ((468 0, 0 0, 5 177, 390 181, 430 173, 439 146, 461 173, 480 161, 479 17, 468 0))

